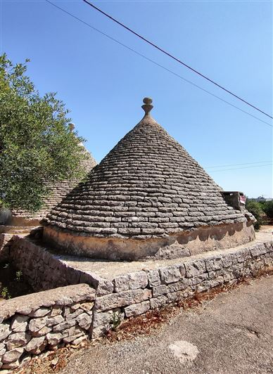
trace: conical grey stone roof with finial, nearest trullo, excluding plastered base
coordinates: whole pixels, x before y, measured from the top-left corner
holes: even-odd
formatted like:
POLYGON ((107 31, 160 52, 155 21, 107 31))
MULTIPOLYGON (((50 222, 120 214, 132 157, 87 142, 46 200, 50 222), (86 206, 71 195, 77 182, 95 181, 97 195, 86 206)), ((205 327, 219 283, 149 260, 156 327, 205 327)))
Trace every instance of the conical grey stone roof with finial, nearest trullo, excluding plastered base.
POLYGON ((103 238, 169 236, 198 226, 246 222, 222 189, 149 114, 44 220, 67 233, 103 238))

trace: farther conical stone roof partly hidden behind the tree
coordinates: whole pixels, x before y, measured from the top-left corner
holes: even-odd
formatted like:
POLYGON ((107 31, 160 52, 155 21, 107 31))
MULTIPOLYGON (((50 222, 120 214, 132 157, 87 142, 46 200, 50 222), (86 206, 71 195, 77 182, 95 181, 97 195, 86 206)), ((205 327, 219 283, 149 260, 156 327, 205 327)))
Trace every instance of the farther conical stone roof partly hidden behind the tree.
MULTIPOLYGON (((87 174, 96 165, 96 160, 94 157, 84 148, 84 154, 87 155, 85 160, 82 160, 82 167, 84 172, 87 174)), ((24 223, 25 220, 30 221, 40 221, 42 218, 46 217, 53 207, 58 205, 65 195, 68 194, 72 188, 75 188, 77 184, 80 183, 80 179, 65 179, 63 181, 44 181, 44 185, 50 191, 49 195, 44 199, 44 205, 37 212, 27 212, 22 209, 13 210, 13 222, 14 223, 24 223)))

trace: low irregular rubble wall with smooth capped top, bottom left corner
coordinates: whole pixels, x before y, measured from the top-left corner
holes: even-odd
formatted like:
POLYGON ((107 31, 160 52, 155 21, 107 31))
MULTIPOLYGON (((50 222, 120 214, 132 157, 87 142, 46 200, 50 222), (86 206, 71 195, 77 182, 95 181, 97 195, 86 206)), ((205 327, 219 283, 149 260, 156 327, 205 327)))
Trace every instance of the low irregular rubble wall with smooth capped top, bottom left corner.
POLYGON ((79 344, 91 334, 95 290, 70 285, 1 302, 0 370, 24 366, 59 344, 79 344))

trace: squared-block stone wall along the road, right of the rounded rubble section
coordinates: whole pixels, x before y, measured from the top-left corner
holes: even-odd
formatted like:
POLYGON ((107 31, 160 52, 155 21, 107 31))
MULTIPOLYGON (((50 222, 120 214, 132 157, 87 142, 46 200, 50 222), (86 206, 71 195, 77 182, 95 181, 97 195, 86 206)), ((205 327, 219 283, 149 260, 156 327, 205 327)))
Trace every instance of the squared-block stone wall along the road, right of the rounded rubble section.
POLYGON ((218 253, 115 278, 114 292, 96 297, 93 337, 103 335, 114 317, 137 316, 273 266, 273 242, 218 253))

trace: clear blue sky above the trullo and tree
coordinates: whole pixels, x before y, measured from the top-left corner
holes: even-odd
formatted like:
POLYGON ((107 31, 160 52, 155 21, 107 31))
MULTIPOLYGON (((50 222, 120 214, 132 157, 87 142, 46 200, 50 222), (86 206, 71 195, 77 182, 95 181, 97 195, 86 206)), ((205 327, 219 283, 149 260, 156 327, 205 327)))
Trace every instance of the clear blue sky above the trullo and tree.
MULTIPOLYGON (((167 69, 272 124, 269 118, 136 39, 83 1, 53 2, 167 69)), ((271 1, 94 4, 196 70, 272 113, 271 1)), ((155 120, 220 186, 251 197, 272 197, 272 165, 268 165, 272 162, 272 127, 103 37, 46 1, 1 1, 3 52, 14 63, 30 58, 28 75, 37 89, 40 93, 58 92, 97 161, 141 120, 142 98, 151 96, 155 120), (234 164, 246 165, 229 166, 234 164)))

